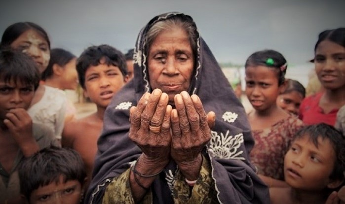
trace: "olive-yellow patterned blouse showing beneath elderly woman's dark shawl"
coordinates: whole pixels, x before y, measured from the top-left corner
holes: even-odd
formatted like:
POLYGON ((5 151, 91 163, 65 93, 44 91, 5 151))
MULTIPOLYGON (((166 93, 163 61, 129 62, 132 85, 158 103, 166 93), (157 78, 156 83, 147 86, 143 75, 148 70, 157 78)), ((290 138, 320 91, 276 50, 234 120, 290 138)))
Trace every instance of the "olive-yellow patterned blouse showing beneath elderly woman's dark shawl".
MULTIPOLYGON (((212 204, 217 203, 216 190, 214 188, 214 181, 211 177, 211 166, 209 161, 202 155, 202 166, 199 177, 192 188, 185 181, 185 177, 181 171, 177 171, 175 177, 175 188, 172 192, 175 204, 212 204)), ((107 186, 103 204, 134 204, 130 184, 129 184, 130 169, 126 170, 119 176, 115 177, 113 181, 107 186)), ((148 191, 141 204, 153 203, 152 191, 148 191)))

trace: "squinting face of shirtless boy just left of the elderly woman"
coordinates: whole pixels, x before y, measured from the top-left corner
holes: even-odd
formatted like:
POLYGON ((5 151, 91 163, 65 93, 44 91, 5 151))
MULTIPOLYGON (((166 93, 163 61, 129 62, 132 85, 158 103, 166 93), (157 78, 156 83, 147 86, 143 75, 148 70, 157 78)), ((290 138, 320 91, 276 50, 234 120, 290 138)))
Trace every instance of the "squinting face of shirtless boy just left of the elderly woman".
POLYGON ((100 107, 107 107, 126 82, 120 69, 113 65, 90 66, 85 72, 84 94, 100 107))

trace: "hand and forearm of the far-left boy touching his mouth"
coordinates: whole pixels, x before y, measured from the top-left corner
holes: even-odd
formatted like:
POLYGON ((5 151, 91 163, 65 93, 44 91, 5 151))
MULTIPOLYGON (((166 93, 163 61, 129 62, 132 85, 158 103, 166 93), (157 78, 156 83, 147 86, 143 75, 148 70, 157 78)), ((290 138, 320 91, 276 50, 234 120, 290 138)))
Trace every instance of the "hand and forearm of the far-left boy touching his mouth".
POLYGON ((32 119, 24 108, 11 109, 6 114, 3 123, 7 126, 25 157, 29 157, 39 150, 38 143, 33 136, 32 119))

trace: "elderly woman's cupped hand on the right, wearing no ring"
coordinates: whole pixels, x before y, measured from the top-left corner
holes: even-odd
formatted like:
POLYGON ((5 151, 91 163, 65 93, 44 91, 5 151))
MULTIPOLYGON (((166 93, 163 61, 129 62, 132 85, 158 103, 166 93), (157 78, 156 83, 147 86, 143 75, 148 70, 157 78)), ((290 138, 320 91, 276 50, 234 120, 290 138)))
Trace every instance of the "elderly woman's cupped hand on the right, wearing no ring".
POLYGON ((186 91, 177 94, 174 101, 176 109, 172 111, 171 116, 170 151, 177 165, 183 168, 201 159, 200 152, 211 139, 215 113, 211 111, 206 114, 199 97, 190 97, 186 91))

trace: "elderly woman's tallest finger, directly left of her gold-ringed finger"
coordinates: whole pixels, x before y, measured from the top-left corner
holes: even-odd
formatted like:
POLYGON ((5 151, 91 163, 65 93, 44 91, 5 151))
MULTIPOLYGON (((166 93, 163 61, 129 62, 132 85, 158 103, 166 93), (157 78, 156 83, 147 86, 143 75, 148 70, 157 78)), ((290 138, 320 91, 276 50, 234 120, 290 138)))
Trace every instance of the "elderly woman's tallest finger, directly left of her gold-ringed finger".
POLYGON ((141 114, 140 128, 148 129, 149 123, 156 109, 156 105, 160 99, 162 91, 160 89, 154 89, 149 97, 149 100, 145 106, 143 113, 141 114))

